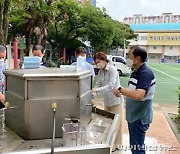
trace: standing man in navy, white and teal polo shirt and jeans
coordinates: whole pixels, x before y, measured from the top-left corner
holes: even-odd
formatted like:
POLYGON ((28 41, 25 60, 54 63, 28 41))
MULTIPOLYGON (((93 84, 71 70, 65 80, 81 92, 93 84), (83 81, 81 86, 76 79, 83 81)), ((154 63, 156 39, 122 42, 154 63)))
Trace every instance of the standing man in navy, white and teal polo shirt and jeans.
POLYGON ((145 134, 153 116, 155 77, 145 63, 147 52, 140 47, 135 47, 132 53, 134 71, 130 76, 128 88, 114 89, 114 94, 126 96, 126 120, 132 153, 145 154, 145 134))

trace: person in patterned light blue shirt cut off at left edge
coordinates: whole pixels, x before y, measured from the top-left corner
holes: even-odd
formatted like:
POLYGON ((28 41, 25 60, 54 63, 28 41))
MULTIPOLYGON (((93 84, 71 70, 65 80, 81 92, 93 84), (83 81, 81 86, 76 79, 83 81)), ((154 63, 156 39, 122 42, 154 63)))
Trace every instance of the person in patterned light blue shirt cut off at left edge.
POLYGON ((0 108, 5 107, 5 65, 6 48, 0 45, 0 108))

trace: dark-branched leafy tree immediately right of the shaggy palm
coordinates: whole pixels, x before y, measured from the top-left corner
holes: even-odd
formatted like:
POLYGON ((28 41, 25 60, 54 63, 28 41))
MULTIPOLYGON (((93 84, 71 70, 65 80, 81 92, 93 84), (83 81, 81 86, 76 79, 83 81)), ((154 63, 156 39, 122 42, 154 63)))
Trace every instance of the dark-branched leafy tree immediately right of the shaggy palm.
POLYGON ((48 39, 53 47, 69 48, 80 43, 78 38, 83 37, 82 29, 85 26, 80 16, 81 10, 82 6, 73 0, 53 3, 54 22, 50 24, 48 39))

